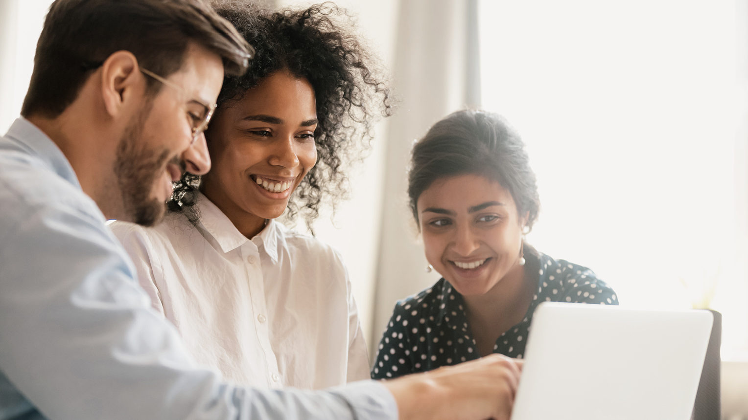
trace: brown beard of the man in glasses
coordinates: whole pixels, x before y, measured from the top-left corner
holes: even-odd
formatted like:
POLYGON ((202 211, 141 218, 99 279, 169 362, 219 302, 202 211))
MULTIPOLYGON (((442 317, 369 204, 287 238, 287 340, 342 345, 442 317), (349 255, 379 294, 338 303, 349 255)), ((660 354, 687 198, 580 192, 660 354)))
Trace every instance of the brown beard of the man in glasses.
MULTIPOLYGON (((117 187, 122 194, 123 214, 143 226, 153 226, 164 216, 166 204, 151 196, 154 187, 165 170, 169 151, 147 149, 143 144, 142 132, 150 106, 127 126, 117 146, 114 162, 114 175, 117 187)), ((174 158, 184 168, 179 158, 174 158)))

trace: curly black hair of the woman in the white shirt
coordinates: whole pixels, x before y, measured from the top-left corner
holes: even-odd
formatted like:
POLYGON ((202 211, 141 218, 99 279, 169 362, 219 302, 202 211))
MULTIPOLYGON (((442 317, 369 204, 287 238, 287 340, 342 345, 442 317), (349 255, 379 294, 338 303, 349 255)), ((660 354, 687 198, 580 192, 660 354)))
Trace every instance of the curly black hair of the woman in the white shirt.
MULTIPOLYGON (((245 75, 224 78, 218 95, 218 108, 241 100, 247 90, 279 70, 287 70, 312 85, 316 97, 317 128, 314 138, 317 164, 294 191, 286 209, 292 219, 299 211, 307 228, 319 215, 322 199, 331 197, 334 209, 338 199, 347 196, 344 164, 363 157, 373 138, 373 124, 379 116, 389 117, 390 90, 375 75, 378 64, 340 20, 352 23, 346 10, 325 2, 305 10, 264 10, 246 1, 214 1, 215 10, 231 22, 254 46, 255 56, 245 75)), ((210 141, 210 129, 206 132, 210 141)), ((170 211, 186 214, 197 223, 194 208, 200 176, 185 173, 174 184, 168 202, 170 211)))

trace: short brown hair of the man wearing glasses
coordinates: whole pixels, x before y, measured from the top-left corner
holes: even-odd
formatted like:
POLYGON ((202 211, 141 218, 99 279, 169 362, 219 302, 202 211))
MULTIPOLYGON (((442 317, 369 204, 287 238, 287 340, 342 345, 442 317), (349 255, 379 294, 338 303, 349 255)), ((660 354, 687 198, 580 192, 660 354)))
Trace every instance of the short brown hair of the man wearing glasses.
MULTIPOLYGON (((202 0, 56 0, 49 7, 21 114, 54 118, 114 52, 168 77, 183 64, 189 42, 221 56, 227 75, 242 75, 252 47, 202 0)), ((148 78, 150 93, 161 84, 148 78)))

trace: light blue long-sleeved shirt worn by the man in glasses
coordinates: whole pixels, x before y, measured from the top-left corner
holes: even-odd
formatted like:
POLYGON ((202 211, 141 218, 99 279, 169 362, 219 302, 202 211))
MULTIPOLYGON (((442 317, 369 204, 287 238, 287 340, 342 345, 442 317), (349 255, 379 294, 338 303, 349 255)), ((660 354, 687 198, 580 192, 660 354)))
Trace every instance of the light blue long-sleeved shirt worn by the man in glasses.
POLYGON ((93 201, 29 155, 0 143, 0 419, 397 418, 380 383, 245 389, 197 367, 93 201))

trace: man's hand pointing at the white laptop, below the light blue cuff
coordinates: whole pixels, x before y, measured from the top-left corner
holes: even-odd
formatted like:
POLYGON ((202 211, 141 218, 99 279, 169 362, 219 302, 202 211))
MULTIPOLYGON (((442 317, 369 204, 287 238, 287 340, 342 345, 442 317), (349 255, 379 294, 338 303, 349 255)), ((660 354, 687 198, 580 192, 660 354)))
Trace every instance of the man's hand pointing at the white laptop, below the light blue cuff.
POLYGON ((509 420, 522 362, 500 354, 387 380, 400 420, 509 420))

